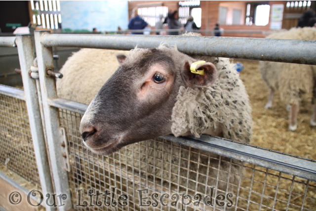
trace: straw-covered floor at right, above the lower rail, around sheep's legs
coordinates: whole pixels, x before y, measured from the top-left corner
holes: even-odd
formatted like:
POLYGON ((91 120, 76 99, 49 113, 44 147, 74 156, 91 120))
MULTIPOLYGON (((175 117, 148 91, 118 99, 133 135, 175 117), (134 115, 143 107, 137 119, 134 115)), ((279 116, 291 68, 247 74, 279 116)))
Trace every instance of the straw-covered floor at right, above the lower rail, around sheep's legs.
MULTIPOLYGON (((298 115, 298 127, 291 132, 288 127, 288 111, 276 92, 271 109, 264 106, 268 100, 268 88, 261 78, 258 61, 238 60, 244 65, 240 77, 244 82, 252 106, 254 121, 252 144, 277 151, 316 160, 316 127, 309 122, 312 116, 312 94, 303 96, 298 115)), ((237 61, 235 61, 237 62, 237 61)))

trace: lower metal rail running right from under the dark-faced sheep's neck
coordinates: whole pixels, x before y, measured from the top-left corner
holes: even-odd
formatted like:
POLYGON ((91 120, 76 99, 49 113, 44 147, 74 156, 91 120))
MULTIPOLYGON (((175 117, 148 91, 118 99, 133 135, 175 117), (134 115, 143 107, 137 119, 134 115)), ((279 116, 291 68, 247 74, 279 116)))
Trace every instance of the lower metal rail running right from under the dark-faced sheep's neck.
POLYGON ((288 155, 277 154, 260 148, 232 141, 225 141, 223 139, 207 135, 202 135, 201 138, 198 139, 191 137, 175 138, 171 135, 161 136, 160 138, 316 181, 315 162, 302 160, 288 155))

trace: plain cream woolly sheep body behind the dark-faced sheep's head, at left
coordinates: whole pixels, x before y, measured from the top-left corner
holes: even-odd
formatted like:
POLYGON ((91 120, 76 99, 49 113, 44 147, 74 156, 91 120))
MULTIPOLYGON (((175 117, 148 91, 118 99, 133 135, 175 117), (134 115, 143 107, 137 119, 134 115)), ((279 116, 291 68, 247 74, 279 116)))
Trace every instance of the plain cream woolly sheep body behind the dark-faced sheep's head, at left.
POLYGON ((89 104, 106 80, 117 70, 116 54, 128 51, 83 48, 68 58, 56 81, 60 98, 89 104), (102 71, 100 71, 102 70, 102 71), (93 82, 93 85, 91 85, 93 82))

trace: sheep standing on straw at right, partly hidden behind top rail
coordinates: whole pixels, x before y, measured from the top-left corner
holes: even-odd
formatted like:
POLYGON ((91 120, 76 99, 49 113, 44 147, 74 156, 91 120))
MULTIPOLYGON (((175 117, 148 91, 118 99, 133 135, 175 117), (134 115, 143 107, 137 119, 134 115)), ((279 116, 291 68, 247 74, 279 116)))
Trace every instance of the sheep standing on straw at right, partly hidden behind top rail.
MULTIPOLYGON (((316 40, 316 28, 293 28, 289 31, 282 31, 267 36, 278 39, 303 39, 316 40)), ((272 107, 273 95, 276 90, 280 92, 280 98, 289 106, 290 131, 297 129, 297 115, 301 95, 315 90, 316 66, 299 65, 279 62, 259 62, 263 80, 269 87, 269 97, 265 108, 272 107)), ((313 102, 316 92, 314 91, 313 102)), ((310 121, 311 126, 316 126, 316 105, 313 103, 313 115, 310 121)))

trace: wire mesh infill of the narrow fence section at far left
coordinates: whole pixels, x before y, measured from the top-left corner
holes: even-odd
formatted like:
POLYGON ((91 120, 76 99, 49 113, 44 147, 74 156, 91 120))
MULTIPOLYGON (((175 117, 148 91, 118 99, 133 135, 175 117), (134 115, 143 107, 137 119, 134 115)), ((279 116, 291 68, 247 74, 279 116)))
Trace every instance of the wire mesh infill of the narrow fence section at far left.
POLYGON ((25 101, 0 94, 0 162, 40 187, 25 101))

